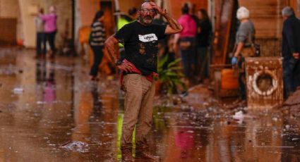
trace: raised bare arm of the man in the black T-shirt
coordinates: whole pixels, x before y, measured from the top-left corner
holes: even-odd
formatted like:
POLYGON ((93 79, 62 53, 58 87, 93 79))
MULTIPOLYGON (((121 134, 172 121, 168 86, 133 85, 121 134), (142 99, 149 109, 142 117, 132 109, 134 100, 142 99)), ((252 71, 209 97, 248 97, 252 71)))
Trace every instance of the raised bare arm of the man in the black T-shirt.
POLYGON ((164 16, 164 18, 167 20, 167 22, 169 23, 169 25, 167 25, 166 30, 164 31, 164 34, 166 35, 170 35, 170 34, 176 34, 178 32, 181 32, 182 30, 182 26, 178 23, 177 20, 175 20, 174 18, 172 18, 168 13, 167 10, 164 9, 162 10, 162 8, 160 8, 159 6, 157 6, 157 4, 155 4, 154 2, 150 2, 150 5, 152 6, 152 8, 155 8, 155 10, 160 13, 160 15, 164 16))

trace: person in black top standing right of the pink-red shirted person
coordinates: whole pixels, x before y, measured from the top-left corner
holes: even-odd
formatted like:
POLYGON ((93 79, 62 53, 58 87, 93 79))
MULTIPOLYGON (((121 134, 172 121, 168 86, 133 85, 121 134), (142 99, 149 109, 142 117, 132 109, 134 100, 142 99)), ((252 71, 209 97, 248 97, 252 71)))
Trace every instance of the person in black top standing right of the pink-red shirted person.
POLYGON ((212 34, 212 24, 208 18, 205 9, 200 9, 197 13, 197 55, 196 55, 196 75, 198 79, 203 80, 209 76, 210 54, 208 46, 210 46, 210 38, 212 34))

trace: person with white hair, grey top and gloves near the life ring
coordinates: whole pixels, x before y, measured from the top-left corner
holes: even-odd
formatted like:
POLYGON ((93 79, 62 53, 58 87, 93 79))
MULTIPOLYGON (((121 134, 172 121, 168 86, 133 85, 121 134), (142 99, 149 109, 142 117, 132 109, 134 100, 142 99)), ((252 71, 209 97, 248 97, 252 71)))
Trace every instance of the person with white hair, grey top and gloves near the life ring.
POLYGON ((253 43, 255 41, 256 30, 250 20, 250 13, 247 8, 240 7, 236 12, 236 18, 239 19, 241 24, 236 32, 236 44, 232 64, 238 69, 241 99, 246 100, 245 57, 255 56, 253 43))

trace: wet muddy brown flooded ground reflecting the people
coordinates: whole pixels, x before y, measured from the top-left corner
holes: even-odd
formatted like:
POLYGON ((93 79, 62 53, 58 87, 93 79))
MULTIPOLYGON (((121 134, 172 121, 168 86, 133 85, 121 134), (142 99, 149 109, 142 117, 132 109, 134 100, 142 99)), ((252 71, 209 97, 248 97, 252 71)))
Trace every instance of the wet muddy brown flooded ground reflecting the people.
MULTIPOLYGON (((118 80, 89 81, 79 57, 34 54, 0 49, 0 161, 120 161, 118 80)), ((155 101, 149 139, 160 161, 300 161, 300 120, 289 109, 249 112, 198 91, 155 101)))

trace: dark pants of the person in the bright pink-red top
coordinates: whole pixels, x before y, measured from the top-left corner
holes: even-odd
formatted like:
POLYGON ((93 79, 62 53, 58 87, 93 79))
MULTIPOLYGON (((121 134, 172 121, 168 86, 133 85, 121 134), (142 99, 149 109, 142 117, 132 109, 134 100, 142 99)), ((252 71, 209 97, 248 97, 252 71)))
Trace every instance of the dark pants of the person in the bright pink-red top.
POLYGON ((191 43, 191 46, 189 46, 187 49, 180 49, 180 51, 181 51, 181 61, 184 66, 184 75, 186 75, 186 77, 192 77, 193 71, 195 70, 193 68, 195 68, 195 64, 196 64, 196 60, 195 60, 196 39, 194 37, 186 37, 186 38, 180 39, 180 42, 190 42, 191 43))

